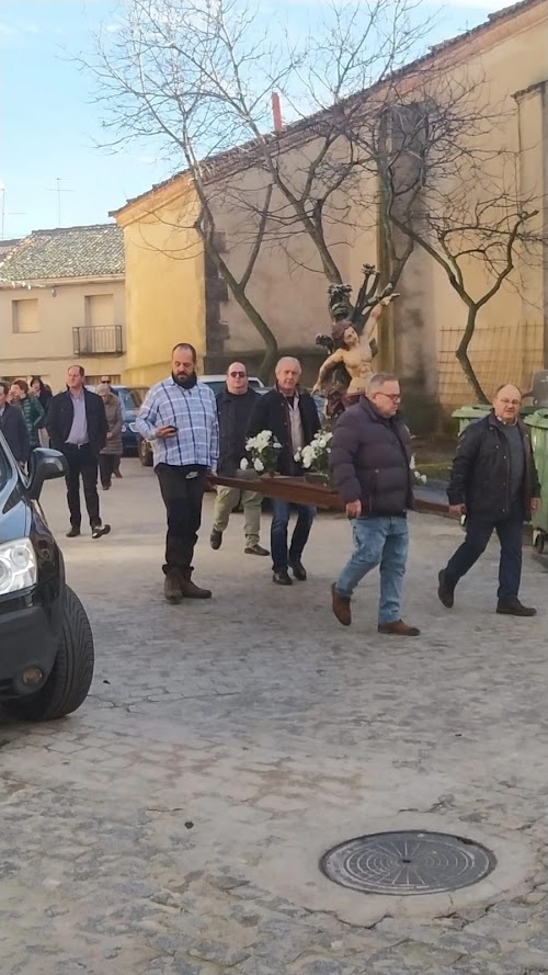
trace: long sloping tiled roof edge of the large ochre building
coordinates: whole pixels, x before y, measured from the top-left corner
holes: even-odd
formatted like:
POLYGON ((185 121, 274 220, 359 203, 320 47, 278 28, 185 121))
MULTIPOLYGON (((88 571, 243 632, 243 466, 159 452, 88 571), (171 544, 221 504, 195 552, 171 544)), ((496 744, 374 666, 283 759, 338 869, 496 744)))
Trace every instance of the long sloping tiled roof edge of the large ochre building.
MULTIPOLYGON (((380 84, 385 84, 388 80, 397 81, 399 78, 404 78, 406 76, 412 75, 413 71, 418 69, 423 69, 429 61, 433 60, 433 58, 437 57, 439 54, 446 54, 455 48, 458 48, 461 45, 465 45, 471 38, 477 37, 481 34, 487 34, 494 25, 499 24, 501 21, 510 21, 518 14, 525 12, 529 8, 539 7, 545 3, 546 0, 521 0, 518 3, 514 3, 512 7, 505 7, 502 10, 498 10, 494 13, 490 13, 487 21, 479 24, 477 27, 472 27, 470 31, 465 31, 463 34, 458 34, 456 37, 449 37, 447 41, 443 41, 439 44, 436 44, 430 48, 430 52, 425 54, 423 57, 416 58, 416 60, 411 61, 409 65, 404 65, 404 67, 400 68, 398 71, 395 71, 389 78, 385 79, 380 84)), ((380 84, 375 84, 372 89, 367 90, 367 94, 372 94, 380 84)), ((365 91, 356 92, 356 94, 350 95, 345 102, 341 102, 341 105, 344 104, 353 104, 357 99, 362 99, 366 94, 365 91)), ((265 138, 273 143, 278 141, 281 146, 284 148, 289 148, 293 145, 294 139, 298 141, 299 137, 302 139, 302 136, 308 138, 310 134, 310 129, 313 129, 315 125, 321 124, 321 121, 324 120, 332 109, 322 109, 320 112, 317 112, 313 115, 308 116, 307 118, 299 118, 298 122, 294 122, 290 125, 285 126, 282 132, 274 132, 266 134, 265 138)), ((229 175, 232 172, 238 172, 240 169, 243 169, 248 166, 253 165, 261 158, 261 150, 256 139, 252 139, 248 143, 244 143, 241 146, 235 146, 232 149, 227 149, 224 152, 219 152, 216 156, 209 156, 206 159, 202 160, 201 167, 203 170, 203 174, 206 180, 215 180, 219 177, 229 175)), ((126 208, 126 206, 130 206, 133 203, 138 203, 140 200, 145 200, 149 194, 155 193, 157 190, 162 190, 168 188, 181 177, 187 177, 192 179, 191 170, 182 170, 181 172, 175 173, 167 180, 163 180, 160 183, 155 183, 150 190, 146 190, 144 193, 140 193, 138 196, 130 197, 124 206, 118 207, 117 209, 111 211, 111 216, 116 216, 118 213, 122 213, 126 208)))

